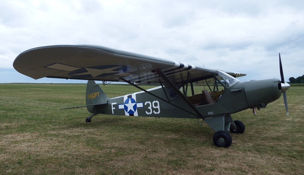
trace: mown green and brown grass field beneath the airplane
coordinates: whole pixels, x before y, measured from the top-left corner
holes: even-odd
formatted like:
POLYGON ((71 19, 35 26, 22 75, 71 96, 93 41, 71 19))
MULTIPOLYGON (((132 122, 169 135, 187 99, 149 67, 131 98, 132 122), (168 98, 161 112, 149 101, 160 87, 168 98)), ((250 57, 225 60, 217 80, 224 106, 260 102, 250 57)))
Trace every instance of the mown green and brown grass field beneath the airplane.
MULTIPOLYGON (((101 87, 109 97, 137 89, 101 87)), ((142 86, 145 89, 150 86, 142 86)), ((304 174, 304 87, 257 111, 233 114, 244 134, 215 147, 195 119, 97 115, 86 84, 0 84, 0 174, 304 174), (85 109, 85 108, 84 108, 85 109)))

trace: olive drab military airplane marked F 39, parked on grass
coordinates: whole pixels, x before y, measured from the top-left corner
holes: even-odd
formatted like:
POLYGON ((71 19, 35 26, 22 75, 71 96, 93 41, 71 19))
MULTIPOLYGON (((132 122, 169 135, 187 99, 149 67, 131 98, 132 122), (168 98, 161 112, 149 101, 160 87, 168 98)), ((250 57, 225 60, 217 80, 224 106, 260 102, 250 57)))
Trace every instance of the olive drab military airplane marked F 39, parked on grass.
POLYGON ((43 77, 88 80, 86 105, 97 114, 195 118, 205 121, 214 131, 213 142, 218 147, 229 147, 232 133, 242 134, 245 126, 233 121, 231 114, 256 108, 284 95, 289 84, 277 78, 241 82, 244 73, 224 72, 202 68, 162 58, 97 45, 53 45, 32 48, 15 59, 14 68, 34 79, 43 77), (126 82, 140 92, 109 98, 95 81, 126 82), (139 85, 158 85, 144 90, 139 85))

